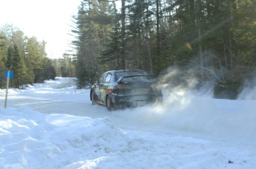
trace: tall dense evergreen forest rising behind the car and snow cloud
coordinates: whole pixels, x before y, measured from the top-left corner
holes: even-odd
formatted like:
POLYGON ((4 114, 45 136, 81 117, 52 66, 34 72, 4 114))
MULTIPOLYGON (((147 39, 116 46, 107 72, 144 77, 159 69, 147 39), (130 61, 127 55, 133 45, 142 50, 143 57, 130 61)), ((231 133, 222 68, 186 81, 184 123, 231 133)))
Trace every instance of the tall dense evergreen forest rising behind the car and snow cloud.
MULTIPOLYGON (((194 66, 198 78, 240 83, 256 65, 255 0, 82 0, 74 16, 79 86, 108 69, 194 66), (213 74, 213 75, 211 75, 213 74), (234 82, 235 81, 235 82, 234 82)), ((235 85, 234 85, 235 86, 235 85)))

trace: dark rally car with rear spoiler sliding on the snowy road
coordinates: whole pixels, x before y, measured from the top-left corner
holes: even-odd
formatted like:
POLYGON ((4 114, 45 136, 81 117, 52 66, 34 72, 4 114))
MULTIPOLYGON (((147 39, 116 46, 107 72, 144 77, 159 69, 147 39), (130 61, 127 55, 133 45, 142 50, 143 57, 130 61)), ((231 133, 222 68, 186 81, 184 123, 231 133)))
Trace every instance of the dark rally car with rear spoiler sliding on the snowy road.
POLYGON ((156 80, 155 76, 140 69, 111 70, 99 77, 91 87, 91 101, 107 106, 109 111, 162 102, 161 90, 154 88, 156 80))

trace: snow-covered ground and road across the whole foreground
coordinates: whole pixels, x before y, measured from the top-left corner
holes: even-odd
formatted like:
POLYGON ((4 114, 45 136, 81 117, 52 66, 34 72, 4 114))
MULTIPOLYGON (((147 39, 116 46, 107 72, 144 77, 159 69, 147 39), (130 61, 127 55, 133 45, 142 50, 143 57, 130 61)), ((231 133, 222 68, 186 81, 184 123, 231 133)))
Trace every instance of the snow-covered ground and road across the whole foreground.
POLYGON ((256 168, 256 100, 165 94, 162 106, 92 106, 59 77, 0 89, 0 168, 256 168))

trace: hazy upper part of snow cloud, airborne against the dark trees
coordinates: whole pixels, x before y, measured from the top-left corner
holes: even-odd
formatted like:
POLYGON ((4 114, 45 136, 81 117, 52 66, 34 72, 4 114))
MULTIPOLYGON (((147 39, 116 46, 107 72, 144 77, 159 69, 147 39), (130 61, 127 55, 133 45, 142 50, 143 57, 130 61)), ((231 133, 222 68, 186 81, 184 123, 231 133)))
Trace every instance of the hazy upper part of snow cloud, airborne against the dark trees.
POLYGON ((215 55, 209 55, 201 63, 194 59, 182 66, 170 66, 160 75, 157 88, 168 89, 169 94, 193 92, 212 96, 216 83, 225 80, 224 69, 215 60, 215 55))

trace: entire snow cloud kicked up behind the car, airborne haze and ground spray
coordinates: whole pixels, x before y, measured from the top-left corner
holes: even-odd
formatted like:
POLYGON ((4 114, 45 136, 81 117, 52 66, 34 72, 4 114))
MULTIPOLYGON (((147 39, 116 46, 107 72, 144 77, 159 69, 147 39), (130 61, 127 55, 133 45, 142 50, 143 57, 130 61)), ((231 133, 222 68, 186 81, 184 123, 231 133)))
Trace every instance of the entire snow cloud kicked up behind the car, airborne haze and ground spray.
POLYGON ((183 131, 185 134, 256 141, 256 105, 214 99, 214 86, 224 80, 224 71, 204 65, 203 78, 196 64, 169 67, 157 85, 163 90, 163 105, 136 108, 127 113, 127 118, 163 132, 183 131))

